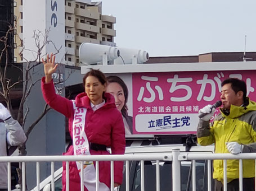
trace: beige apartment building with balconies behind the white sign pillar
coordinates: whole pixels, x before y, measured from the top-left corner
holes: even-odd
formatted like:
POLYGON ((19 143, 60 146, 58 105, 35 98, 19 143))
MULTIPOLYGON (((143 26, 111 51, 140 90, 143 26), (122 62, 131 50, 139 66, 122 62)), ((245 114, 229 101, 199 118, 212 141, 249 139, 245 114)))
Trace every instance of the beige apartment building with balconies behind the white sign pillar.
MULTIPOLYGON (((23 0, 14 1, 14 18, 17 23, 15 60, 23 62, 19 55, 19 46, 23 46, 23 0)), ((102 2, 65 0, 65 63, 79 66, 79 46, 83 42, 116 46, 115 23, 115 17, 102 15, 102 2)))

